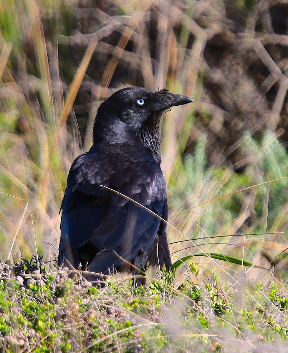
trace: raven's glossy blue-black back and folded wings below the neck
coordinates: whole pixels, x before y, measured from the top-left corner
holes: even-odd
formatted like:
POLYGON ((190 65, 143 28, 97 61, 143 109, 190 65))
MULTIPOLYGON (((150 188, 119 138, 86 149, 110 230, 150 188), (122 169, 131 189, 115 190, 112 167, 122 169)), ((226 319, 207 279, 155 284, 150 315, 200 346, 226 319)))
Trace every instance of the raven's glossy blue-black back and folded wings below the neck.
POLYGON ((89 270, 108 274, 123 265, 121 257, 129 262, 141 254, 148 257, 160 219, 100 186, 108 186, 167 218, 166 186, 160 166, 149 156, 141 157, 138 152, 136 157, 135 153, 110 151, 117 160, 108 160, 104 152, 87 152, 76 158, 62 203, 58 263, 65 257, 77 268, 79 262, 86 261, 91 263, 89 270))

